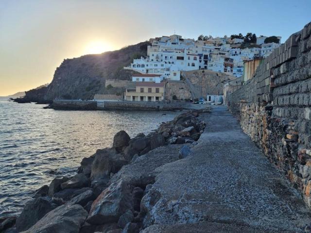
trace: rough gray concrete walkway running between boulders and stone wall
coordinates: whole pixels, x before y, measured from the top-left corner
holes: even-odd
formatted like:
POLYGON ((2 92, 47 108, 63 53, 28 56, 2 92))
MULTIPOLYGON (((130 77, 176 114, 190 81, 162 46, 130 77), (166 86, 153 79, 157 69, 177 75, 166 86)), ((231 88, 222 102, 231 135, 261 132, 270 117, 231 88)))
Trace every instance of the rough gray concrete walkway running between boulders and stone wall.
POLYGON ((224 106, 192 154, 158 169, 153 225, 143 233, 296 233, 311 224, 299 192, 242 132, 224 106))

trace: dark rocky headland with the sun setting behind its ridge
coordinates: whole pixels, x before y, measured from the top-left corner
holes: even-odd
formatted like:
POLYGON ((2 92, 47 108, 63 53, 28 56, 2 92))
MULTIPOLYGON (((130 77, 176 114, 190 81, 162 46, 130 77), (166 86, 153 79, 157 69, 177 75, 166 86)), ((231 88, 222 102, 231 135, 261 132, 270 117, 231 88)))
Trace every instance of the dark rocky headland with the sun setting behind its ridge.
POLYGON ((145 56, 148 43, 65 59, 56 68, 44 99, 92 99, 95 93, 104 92, 106 79, 130 79, 133 71, 124 70, 123 67, 128 66, 134 58, 145 56))

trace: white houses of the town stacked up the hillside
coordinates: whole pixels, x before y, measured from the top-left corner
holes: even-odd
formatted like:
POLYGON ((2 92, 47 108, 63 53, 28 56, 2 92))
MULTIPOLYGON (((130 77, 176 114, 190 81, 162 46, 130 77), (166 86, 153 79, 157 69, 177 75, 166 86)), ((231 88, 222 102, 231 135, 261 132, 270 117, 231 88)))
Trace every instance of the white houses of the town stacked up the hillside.
POLYGON ((242 34, 215 38, 199 36, 198 40, 184 39, 176 34, 152 38, 147 56, 134 59, 124 68, 143 74, 160 74, 170 80, 180 80, 180 71, 197 69, 241 77, 245 61, 265 58, 280 46, 280 36, 272 36, 277 43, 266 43, 269 37, 248 34, 251 34, 249 40, 242 34))

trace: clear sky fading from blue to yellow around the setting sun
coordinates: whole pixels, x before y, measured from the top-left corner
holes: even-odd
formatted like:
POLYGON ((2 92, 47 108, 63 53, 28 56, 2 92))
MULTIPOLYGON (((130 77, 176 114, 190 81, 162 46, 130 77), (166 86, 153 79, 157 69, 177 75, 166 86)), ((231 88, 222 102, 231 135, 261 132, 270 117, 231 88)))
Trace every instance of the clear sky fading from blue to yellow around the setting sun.
POLYGON ((50 83, 66 58, 174 32, 282 36, 311 21, 311 0, 0 0, 0 96, 50 83))

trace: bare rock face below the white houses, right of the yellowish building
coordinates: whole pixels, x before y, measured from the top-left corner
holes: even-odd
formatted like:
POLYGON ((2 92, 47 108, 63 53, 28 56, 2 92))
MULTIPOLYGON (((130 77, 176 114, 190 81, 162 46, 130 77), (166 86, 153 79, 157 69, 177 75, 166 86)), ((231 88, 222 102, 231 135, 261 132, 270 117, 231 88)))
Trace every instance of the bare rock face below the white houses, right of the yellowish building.
POLYGON ((224 84, 236 77, 211 70, 182 71, 182 81, 169 81, 166 84, 165 98, 199 99, 207 94, 223 95, 224 84))

